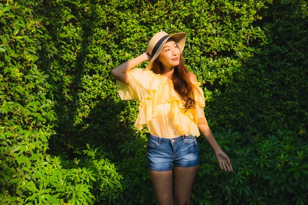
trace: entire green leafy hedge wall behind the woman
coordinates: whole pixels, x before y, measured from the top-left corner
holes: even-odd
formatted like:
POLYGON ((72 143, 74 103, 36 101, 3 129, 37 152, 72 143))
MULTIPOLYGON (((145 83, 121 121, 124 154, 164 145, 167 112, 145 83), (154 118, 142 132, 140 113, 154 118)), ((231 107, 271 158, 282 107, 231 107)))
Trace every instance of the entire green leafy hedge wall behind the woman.
POLYGON ((154 204, 138 102, 109 72, 159 30, 188 33, 235 168, 198 138, 192 204, 307 204, 306 0, 1 1, 1 204, 154 204))

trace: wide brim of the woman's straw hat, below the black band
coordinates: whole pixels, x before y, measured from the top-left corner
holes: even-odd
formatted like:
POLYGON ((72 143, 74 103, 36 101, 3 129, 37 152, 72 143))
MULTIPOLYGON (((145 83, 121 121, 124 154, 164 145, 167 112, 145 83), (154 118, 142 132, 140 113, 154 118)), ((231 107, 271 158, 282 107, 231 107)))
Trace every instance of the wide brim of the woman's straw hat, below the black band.
POLYGON ((178 45, 181 53, 184 50, 185 47, 185 42, 186 42, 186 35, 187 33, 185 32, 180 32, 180 33, 174 33, 172 35, 170 35, 168 38, 166 38, 158 47, 156 53, 154 54, 154 56, 150 59, 149 64, 146 67, 146 70, 150 70, 152 63, 154 62, 154 60, 159 56, 163 46, 165 45, 165 43, 168 41, 169 38, 172 38, 178 45))

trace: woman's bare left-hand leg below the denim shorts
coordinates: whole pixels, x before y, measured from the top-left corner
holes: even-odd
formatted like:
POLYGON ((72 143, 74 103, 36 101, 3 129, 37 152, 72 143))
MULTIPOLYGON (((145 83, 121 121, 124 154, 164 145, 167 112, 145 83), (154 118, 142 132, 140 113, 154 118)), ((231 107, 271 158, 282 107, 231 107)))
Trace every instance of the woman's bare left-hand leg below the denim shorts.
POLYGON ((150 170, 157 205, 174 205, 172 193, 172 170, 155 172, 150 170))

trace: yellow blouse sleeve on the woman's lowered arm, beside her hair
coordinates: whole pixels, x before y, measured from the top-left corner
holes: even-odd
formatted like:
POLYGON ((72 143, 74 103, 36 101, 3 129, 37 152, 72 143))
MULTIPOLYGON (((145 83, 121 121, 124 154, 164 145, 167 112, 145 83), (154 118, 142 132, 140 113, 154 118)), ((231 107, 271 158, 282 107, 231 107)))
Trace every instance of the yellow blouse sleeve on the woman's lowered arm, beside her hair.
POLYGON ((193 116, 197 119, 198 124, 208 124, 208 121, 204 114, 205 100, 202 88, 200 88, 200 83, 192 82, 195 86, 194 98, 196 102, 196 107, 193 109, 193 116))

